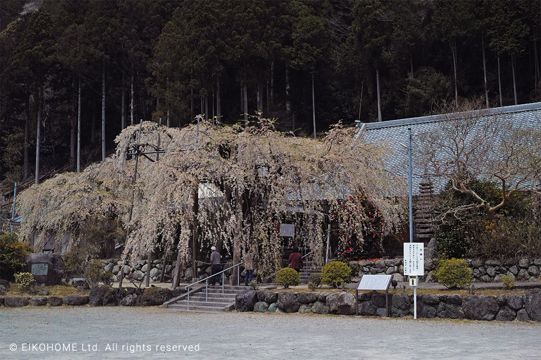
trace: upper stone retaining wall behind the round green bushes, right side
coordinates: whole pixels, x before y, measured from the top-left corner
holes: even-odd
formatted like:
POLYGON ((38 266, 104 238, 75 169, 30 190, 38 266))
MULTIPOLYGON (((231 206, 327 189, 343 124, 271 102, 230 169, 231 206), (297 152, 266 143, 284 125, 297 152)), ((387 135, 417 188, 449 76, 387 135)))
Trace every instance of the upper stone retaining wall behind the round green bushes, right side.
MULTIPOLYGON (((502 277, 507 275, 517 281, 539 282, 541 272, 541 259, 511 259, 507 261, 467 259, 473 282, 502 282, 502 277)), ((393 275, 393 279, 401 282, 407 281, 404 274, 403 259, 380 259, 376 261, 350 261, 352 268, 352 282, 358 282, 364 274, 387 274, 393 275)), ((431 261, 425 260, 425 276, 421 281, 434 282, 430 273, 434 269, 431 261)))

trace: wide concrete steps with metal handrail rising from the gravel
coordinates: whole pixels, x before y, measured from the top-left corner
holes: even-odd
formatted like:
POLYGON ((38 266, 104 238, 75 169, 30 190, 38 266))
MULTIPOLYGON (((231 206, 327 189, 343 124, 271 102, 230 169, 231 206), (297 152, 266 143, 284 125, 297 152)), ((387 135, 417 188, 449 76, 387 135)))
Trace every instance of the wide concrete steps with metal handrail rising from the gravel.
POLYGON ((205 290, 195 292, 190 291, 190 309, 188 310, 188 299, 176 301, 174 304, 167 306, 167 309, 190 311, 190 312, 222 312, 235 309, 235 295, 242 290, 249 290, 248 286, 222 286, 209 285, 207 298, 205 298, 205 290))

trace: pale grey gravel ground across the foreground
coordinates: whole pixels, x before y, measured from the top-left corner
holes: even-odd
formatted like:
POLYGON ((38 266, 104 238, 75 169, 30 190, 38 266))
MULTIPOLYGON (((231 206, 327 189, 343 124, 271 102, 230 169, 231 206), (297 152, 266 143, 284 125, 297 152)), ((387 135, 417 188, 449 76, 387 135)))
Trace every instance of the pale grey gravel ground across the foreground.
POLYGON ((122 307, 2 308, 0 334, 0 359, 541 358, 539 323, 411 317, 205 314, 122 307), (39 345, 22 351, 23 346, 28 349, 23 345, 28 343, 72 344, 77 351, 40 351, 39 345), (17 350, 11 351, 10 344, 17 350), (136 344, 144 346, 130 349, 136 344), (156 349, 156 345, 199 345, 199 351, 168 351, 156 349))

